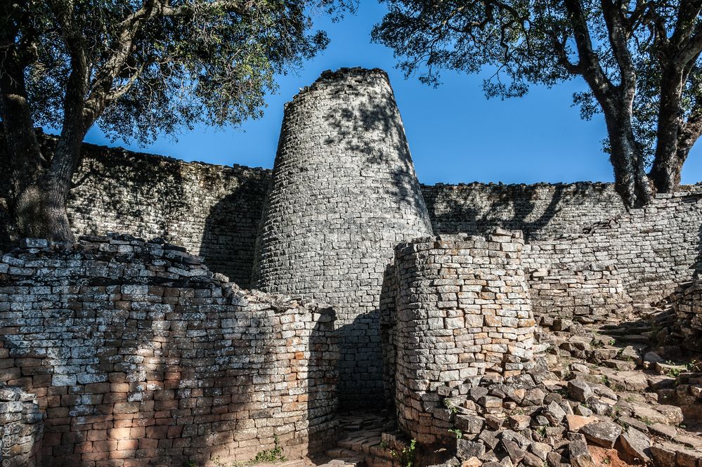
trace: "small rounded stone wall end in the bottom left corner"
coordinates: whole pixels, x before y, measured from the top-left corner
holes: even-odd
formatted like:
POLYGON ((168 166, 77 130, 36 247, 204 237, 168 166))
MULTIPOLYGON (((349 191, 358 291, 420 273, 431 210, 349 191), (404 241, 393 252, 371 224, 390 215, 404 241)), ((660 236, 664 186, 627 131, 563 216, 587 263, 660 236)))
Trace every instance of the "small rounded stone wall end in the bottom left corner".
MULTIPOLYGON (((0 354, 7 349, 0 348, 0 354)), ((0 384, 0 466, 41 467, 44 413, 36 396, 0 384)))

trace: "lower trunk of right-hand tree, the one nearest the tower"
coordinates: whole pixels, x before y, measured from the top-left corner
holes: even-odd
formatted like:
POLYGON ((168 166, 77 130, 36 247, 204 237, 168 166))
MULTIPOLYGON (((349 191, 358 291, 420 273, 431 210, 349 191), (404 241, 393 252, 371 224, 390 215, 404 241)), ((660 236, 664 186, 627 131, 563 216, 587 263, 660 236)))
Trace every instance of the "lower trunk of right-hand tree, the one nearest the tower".
POLYGON ((609 159, 614 168, 614 188, 628 208, 635 208, 651 201, 653 190, 630 122, 626 118, 606 118, 611 150, 609 159))

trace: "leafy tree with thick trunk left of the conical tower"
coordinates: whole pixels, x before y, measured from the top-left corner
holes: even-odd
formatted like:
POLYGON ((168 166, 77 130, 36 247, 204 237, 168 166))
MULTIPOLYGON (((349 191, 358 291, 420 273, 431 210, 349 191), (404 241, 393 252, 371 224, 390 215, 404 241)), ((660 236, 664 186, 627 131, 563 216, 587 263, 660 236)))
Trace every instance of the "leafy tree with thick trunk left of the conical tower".
POLYGON ((148 142, 258 117, 275 73, 327 44, 310 8, 345 0, 0 2, 6 193, 21 235, 72 239, 66 199, 86 132, 148 142), (53 154, 34 126, 60 128, 53 154))

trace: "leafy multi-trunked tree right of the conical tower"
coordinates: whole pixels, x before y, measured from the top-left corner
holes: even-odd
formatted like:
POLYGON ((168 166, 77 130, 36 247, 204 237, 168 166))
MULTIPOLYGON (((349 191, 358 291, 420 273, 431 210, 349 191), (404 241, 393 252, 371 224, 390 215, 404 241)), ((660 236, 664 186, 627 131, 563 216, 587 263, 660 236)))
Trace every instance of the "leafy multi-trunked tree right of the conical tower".
POLYGON ((407 76, 496 72, 488 97, 582 77, 584 118, 602 112, 615 186, 627 206, 672 192, 702 132, 702 0, 388 0, 375 41, 407 76), (646 173, 646 166, 651 171, 646 173), (651 186, 652 185, 652 186, 651 186))

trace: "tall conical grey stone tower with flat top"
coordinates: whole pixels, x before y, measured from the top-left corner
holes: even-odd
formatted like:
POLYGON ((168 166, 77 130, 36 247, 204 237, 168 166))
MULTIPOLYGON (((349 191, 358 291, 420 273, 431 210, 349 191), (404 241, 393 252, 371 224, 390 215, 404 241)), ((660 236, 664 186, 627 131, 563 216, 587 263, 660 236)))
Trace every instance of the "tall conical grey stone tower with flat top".
POLYGON ((427 235, 387 74, 323 72, 285 107, 253 283, 334 305, 342 407, 384 403, 384 272, 396 244, 427 235))

